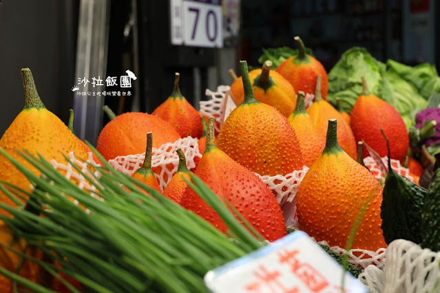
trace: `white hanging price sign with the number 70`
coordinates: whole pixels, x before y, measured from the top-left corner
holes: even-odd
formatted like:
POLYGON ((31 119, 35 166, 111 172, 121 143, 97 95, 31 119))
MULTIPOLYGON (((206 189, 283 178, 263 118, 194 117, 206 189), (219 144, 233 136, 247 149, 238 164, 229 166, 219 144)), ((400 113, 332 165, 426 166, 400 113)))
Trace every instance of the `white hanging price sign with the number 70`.
POLYGON ((221 0, 170 0, 171 44, 223 47, 221 0))

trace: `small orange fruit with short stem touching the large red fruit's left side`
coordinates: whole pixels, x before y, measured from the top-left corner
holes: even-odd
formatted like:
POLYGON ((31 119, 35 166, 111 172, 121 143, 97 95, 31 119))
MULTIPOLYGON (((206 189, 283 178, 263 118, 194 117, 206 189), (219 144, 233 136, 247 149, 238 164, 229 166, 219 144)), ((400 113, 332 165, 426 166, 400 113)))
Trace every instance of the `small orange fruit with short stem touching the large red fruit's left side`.
POLYGON ((189 171, 187 168, 185 153, 183 153, 181 149, 176 149, 176 152, 179 155, 179 166, 176 174, 173 175, 173 177, 171 178, 171 180, 169 180, 167 186, 165 187, 163 195, 180 204, 180 200, 182 199, 182 196, 188 187, 185 179, 191 181, 191 177, 189 176, 189 174, 191 174, 192 172, 189 171))

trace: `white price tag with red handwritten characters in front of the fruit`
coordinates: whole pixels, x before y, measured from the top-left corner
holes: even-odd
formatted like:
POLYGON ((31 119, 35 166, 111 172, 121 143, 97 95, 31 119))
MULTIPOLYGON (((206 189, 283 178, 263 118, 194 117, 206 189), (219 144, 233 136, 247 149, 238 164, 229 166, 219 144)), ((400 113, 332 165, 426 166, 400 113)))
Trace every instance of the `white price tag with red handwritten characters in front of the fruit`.
POLYGON ((302 231, 235 259, 205 275, 215 293, 367 293, 327 252, 302 231))

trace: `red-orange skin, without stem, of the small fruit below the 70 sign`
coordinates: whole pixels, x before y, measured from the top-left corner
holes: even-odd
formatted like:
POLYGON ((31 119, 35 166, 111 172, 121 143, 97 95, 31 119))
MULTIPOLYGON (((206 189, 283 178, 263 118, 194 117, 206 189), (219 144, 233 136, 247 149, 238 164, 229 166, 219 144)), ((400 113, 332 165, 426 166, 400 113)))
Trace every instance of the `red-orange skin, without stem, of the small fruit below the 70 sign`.
POLYGON ((151 115, 169 122, 181 138, 187 136, 200 138, 203 134, 202 120, 198 111, 183 96, 170 96, 154 109, 151 115))

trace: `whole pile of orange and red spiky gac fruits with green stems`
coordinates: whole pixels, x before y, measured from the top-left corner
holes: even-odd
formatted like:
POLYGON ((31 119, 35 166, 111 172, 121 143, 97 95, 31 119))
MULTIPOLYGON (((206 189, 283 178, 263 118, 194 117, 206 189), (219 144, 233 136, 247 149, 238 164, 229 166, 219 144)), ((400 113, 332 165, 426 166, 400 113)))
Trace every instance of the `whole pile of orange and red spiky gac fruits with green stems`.
MULTIPOLYGON (((299 228, 317 241, 327 241, 331 246, 375 251, 386 247, 392 238, 416 235, 409 229, 399 230, 401 234, 394 233, 396 221, 392 220, 392 215, 395 215, 395 210, 401 221, 408 220, 415 225, 423 223, 429 226, 427 230, 432 230, 432 223, 422 219, 421 215, 429 219, 437 215, 437 210, 431 208, 423 212, 420 200, 396 198, 389 189, 392 186, 406 186, 401 188, 405 189, 402 194, 417 191, 417 194, 424 195, 426 190, 423 191, 423 187, 408 183, 404 177, 393 173, 390 164, 384 186, 363 164, 363 157, 373 155, 373 152, 379 160, 386 155, 402 164, 408 160, 408 131, 399 112, 382 97, 370 94, 368 80, 363 78, 364 90, 357 97, 347 119, 327 100, 329 86, 324 67, 316 58, 306 54, 299 37, 295 37, 295 41, 299 47, 297 54, 276 69, 271 69, 271 62, 266 61, 262 69, 248 72, 247 62, 240 62, 241 76, 231 85, 238 105, 222 123, 218 135, 214 131, 216 118, 208 118, 206 125, 205 116, 201 116, 180 92, 178 73, 171 95, 151 114, 128 112, 114 116, 101 131, 95 153, 100 155, 96 160, 105 165, 100 170, 111 179, 103 181, 103 186, 107 187, 99 190, 106 197, 105 200, 111 200, 114 195, 136 197, 140 189, 141 195, 165 202, 169 208, 178 206, 192 211, 211 224, 211 228, 213 226, 225 235, 233 235, 231 221, 237 221, 256 239, 275 241, 286 235, 286 219, 273 193, 257 175, 284 176, 306 166, 308 172, 297 192, 296 213, 299 228), (307 109, 304 105, 306 94, 314 95, 313 104, 307 109), (169 178, 169 184, 160 188, 155 169, 151 166, 152 148, 188 136, 200 142, 199 148, 203 150, 200 161, 190 171, 185 154, 177 149, 178 169, 169 178), (362 149, 357 142, 364 142, 368 146, 364 155, 359 155, 362 149), (129 179, 114 175, 114 171, 108 169, 108 160, 143 152, 145 159, 142 166, 134 170, 129 179), (122 182, 117 182, 118 179, 122 182), (195 186, 194 180, 201 180, 205 185, 199 182, 195 186), (224 217, 224 214, 218 213, 218 208, 208 204, 205 197, 200 196, 200 193, 207 192, 213 192, 235 218, 224 217), (395 209, 395 202, 403 203, 405 207, 395 209), (419 209, 408 216, 405 209, 411 207, 419 209)), ((15 217, 21 215, 15 213, 14 208, 34 211, 36 208, 39 213, 42 210, 39 204, 30 200, 34 199, 30 195, 39 188, 36 182, 44 182, 47 174, 43 173, 38 180, 30 173, 23 174, 11 159, 22 162, 37 176, 43 171, 36 168, 38 164, 30 164, 16 149, 57 162, 67 162, 64 155, 71 151, 76 158, 87 160, 87 151, 90 151, 90 146, 76 138, 63 122, 45 109, 36 93, 30 71, 23 69, 22 73, 25 108, 0 140, 5 152, 0 157, 0 180, 6 182, 2 188, 1 202, 8 207, 2 209, 3 224, 13 222, 11 213, 15 217)), ((62 180, 55 181, 54 184, 59 184, 56 185, 59 193, 64 194, 63 188, 69 185, 61 188, 62 180)), ((431 190, 434 188, 437 186, 431 186, 429 193, 433 193, 431 190)), ((135 202, 145 204, 141 199, 135 202)), ((123 201, 116 203, 129 206, 123 201)), ((87 201, 83 204, 87 207, 87 201)), ((102 210, 117 205, 112 205, 112 202, 108 204, 102 210)), ((437 207, 435 204, 432 206, 437 207)), ((100 213, 100 210, 99 206, 94 206, 95 213, 100 213)), ((125 206, 117 206, 115 210, 123 211, 125 206)), ((139 221, 143 222, 142 219, 139 221)), ((417 226, 412 228, 417 229, 417 226)), ((6 226, 5 231, 8 235, 4 241, 8 243, 1 240, 10 245, 12 232, 6 226)), ((130 231, 125 232, 132 235, 130 231)), ((426 234, 418 236, 424 243, 430 242, 426 234)), ((14 248, 23 251, 21 242, 19 244, 14 243, 14 248)), ((183 243, 182 246, 187 247, 187 244, 183 243)), ((43 253, 36 250, 32 256, 41 259, 43 253)), ((17 270, 20 266, 17 259, 10 257, 0 265, 34 282, 38 281, 41 276, 39 266, 34 263, 35 268, 31 270, 29 265, 21 265, 22 270, 17 270)), ((12 285, 8 280, 3 278, 0 281, 10 288, 12 285)))

